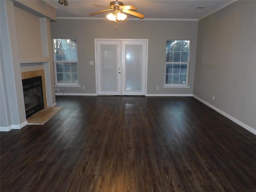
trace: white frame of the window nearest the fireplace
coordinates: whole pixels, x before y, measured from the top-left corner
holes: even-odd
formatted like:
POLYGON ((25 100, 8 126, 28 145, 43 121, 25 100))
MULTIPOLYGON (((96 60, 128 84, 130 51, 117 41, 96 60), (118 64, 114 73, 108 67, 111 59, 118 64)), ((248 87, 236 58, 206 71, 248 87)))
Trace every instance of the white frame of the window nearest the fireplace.
MULTIPOLYGON (((78 59, 76 61, 56 61, 55 58, 56 58, 56 53, 54 52, 54 40, 57 40, 57 39, 61 39, 61 38, 52 38, 52 51, 53 51, 53 62, 54 62, 54 70, 55 70, 55 85, 56 86, 80 86, 79 85, 79 74, 78 74, 78 59), (58 80, 57 80, 57 67, 56 67, 56 63, 76 63, 77 64, 77 83, 58 83, 58 80)), ((74 38, 69 38, 70 40, 77 40, 77 39, 74 39, 74 38)), ((64 40, 64 39, 61 39, 61 40, 64 40)), ((77 42, 77 41, 76 41, 77 42)), ((76 43, 76 46, 77 46, 77 43, 76 43)), ((76 49, 76 52, 77 52, 77 49, 76 49)))

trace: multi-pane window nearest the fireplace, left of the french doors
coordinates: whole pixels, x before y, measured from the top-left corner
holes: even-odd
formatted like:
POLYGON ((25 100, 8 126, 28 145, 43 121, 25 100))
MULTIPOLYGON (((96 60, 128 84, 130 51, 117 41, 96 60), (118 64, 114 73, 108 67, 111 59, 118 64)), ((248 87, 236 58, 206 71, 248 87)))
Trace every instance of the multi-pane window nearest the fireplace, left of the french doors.
POLYGON ((76 39, 53 39, 56 84, 78 84, 76 39))

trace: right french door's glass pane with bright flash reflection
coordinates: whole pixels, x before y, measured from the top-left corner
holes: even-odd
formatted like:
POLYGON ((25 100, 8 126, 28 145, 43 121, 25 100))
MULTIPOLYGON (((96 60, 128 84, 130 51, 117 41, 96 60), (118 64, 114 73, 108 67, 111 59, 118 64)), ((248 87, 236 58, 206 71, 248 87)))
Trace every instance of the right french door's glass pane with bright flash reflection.
POLYGON ((141 90, 142 45, 126 45, 126 91, 141 90))

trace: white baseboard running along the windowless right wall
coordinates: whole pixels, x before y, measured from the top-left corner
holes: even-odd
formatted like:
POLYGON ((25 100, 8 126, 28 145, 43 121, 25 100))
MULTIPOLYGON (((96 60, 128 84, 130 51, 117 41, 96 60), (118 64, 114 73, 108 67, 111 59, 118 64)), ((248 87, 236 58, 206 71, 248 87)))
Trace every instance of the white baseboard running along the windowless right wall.
POLYGON ((213 110, 217 111, 218 113, 222 114, 223 116, 225 116, 226 118, 232 120, 233 122, 235 122, 236 124, 240 125, 241 127, 245 128, 246 130, 250 131, 251 133, 253 133, 254 135, 256 135, 256 130, 246 124, 244 124, 243 122, 237 120, 236 118, 230 116, 229 114, 225 113, 224 111, 214 107, 213 105, 211 105, 210 103, 202 100, 201 98, 199 98, 198 96, 193 95, 193 97, 197 100, 199 100, 200 102, 202 102, 203 104, 206 104, 208 107, 212 108, 213 110))

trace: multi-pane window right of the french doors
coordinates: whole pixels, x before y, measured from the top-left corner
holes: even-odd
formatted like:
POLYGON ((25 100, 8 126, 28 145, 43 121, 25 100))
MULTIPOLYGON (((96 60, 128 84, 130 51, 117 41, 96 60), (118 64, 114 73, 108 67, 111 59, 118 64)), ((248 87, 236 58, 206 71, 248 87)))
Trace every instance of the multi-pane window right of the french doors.
POLYGON ((166 41, 165 85, 188 85, 189 40, 166 41))

